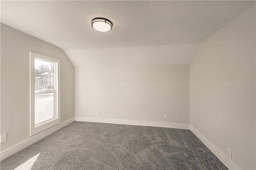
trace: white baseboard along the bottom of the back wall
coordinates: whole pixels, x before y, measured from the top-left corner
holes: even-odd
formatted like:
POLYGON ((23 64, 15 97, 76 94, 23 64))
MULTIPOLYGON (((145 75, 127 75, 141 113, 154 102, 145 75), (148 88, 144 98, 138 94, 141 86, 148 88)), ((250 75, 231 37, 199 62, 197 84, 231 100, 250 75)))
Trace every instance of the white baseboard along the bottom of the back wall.
POLYGON ((186 124, 149 122, 149 121, 134 121, 134 120, 122 120, 122 119, 102 119, 102 118, 93 118, 93 117, 75 117, 75 121, 190 129, 190 125, 186 125, 186 124))

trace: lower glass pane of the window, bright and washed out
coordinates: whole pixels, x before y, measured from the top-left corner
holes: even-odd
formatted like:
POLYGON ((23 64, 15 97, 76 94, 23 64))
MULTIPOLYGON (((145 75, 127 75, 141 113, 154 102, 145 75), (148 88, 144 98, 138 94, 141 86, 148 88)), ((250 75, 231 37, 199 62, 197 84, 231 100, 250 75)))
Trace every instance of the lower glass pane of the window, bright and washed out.
POLYGON ((35 94, 35 124, 54 117, 54 93, 35 94))

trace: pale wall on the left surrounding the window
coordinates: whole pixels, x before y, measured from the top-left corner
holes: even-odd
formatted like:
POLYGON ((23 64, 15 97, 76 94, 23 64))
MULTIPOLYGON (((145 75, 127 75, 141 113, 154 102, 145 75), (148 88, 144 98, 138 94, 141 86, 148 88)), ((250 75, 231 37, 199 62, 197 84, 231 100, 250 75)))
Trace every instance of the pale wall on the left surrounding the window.
POLYGON ((74 66, 62 49, 1 23, 1 152, 30 138, 30 51, 60 59, 61 122, 74 117, 74 66))

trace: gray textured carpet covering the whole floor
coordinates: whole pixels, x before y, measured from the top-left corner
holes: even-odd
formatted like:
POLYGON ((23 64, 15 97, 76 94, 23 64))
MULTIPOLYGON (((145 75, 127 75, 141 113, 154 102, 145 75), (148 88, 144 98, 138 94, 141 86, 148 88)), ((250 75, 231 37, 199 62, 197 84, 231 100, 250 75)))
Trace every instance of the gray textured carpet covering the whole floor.
POLYGON ((38 170, 228 169, 190 130, 87 122, 71 123, 6 158, 0 167, 26 166, 38 170))

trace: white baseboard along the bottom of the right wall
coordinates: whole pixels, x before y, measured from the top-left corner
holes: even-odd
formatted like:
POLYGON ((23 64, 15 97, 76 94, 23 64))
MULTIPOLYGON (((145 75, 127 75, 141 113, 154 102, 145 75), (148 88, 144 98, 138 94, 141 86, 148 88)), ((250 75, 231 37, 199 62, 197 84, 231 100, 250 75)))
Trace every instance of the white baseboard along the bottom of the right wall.
POLYGON ((190 130, 209 148, 212 153, 230 170, 240 170, 224 153, 222 153, 212 142, 202 135, 196 128, 190 125, 190 130))

